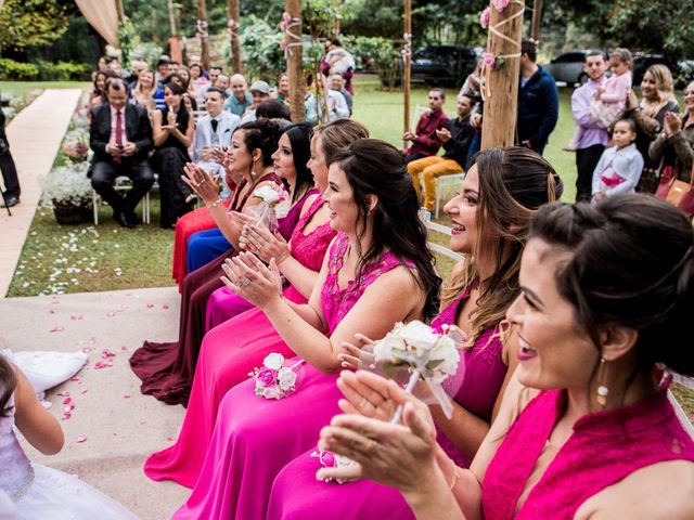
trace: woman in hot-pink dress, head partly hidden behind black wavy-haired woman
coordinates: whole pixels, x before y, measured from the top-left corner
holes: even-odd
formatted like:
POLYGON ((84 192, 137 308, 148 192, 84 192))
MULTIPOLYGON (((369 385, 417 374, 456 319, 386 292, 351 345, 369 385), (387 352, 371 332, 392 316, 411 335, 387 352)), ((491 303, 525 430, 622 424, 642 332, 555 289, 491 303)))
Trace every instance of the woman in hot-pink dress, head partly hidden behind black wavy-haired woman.
MULTIPOLYGON (((367 129, 348 119, 340 119, 314 129, 311 141, 309 167, 319 188, 327 186, 327 162, 343 147, 368 136, 367 129)), ((327 246, 335 235, 329 222, 330 210, 322 197, 314 200, 301 216, 290 244, 292 256, 281 259, 284 252, 280 240, 270 240, 268 234, 247 230, 245 245, 262 244, 269 258, 280 259, 280 270, 292 285, 284 297, 306 303, 318 280, 327 246), (260 242, 266 240, 266 242, 260 242), (307 295, 307 296, 304 296, 307 295)), ((275 260, 277 262, 277 260, 275 260)), ((244 300, 245 301, 245 300, 244 300)), ((213 433, 217 406, 227 390, 248 378, 248 372, 261 363, 270 352, 291 351, 259 308, 252 309, 213 328, 203 340, 197 362, 191 401, 179 438, 172 446, 153 454, 144 466, 145 473, 154 480, 171 479, 192 487, 203 465, 207 443, 213 433), (233 338, 233 340, 230 340, 233 338)))

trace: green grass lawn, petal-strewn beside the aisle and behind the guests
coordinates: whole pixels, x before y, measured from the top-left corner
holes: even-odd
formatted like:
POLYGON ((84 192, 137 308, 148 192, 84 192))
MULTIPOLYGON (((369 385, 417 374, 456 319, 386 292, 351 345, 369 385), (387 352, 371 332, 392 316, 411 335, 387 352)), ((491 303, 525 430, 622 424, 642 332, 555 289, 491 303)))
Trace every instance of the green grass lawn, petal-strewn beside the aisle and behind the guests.
MULTIPOLYGON (((35 88, 81 87, 81 83, 12 83, 0 82, 3 90, 22 93, 35 88)), ((355 95, 354 117, 363 122, 374 138, 401 146, 402 93, 384 92, 374 78, 360 78, 355 95)), ((564 89, 565 90, 565 89, 564 89)), ((552 134, 547 156, 565 182, 566 200, 574 197, 576 169, 574 156, 561 151, 574 131, 569 95, 561 91, 557 129, 552 134)), ((448 91, 447 108, 454 113, 455 91, 448 91)), ((426 107, 427 89, 412 90, 412 112, 426 107)), ((415 120, 413 119, 413 123, 415 120)), ((57 157, 56 162, 62 158, 57 157)), ((100 209, 100 224, 62 226, 55 223, 51 209, 39 208, 22 251, 9 296, 116 290, 132 287, 162 287, 172 284, 170 262, 174 242, 171 230, 158 223, 158 193, 152 194, 152 224, 124 230, 111 219, 111 209, 100 209)), ((433 237, 446 244, 446 237, 433 237)), ((446 276, 452 266, 440 259, 438 270, 446 276)))

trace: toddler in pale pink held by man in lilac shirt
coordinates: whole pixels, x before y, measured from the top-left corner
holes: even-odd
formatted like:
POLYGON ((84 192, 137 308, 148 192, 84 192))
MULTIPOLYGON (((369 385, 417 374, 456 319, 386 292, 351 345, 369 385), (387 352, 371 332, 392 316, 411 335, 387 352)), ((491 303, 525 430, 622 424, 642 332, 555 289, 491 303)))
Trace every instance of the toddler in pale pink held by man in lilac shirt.
MULTIPOLYGON (((609 127, 625 107, 625 101, 631 90, 633 58, 629 49, 616 49, 609 56, 612 76, 605 84, 597 89, 595 99, 590 104, 590 116, 603 128, 609 127)), ((567 152, 575 152, 581 140, 583 128, 576 126, 571 142, 564 147, 567 152)))

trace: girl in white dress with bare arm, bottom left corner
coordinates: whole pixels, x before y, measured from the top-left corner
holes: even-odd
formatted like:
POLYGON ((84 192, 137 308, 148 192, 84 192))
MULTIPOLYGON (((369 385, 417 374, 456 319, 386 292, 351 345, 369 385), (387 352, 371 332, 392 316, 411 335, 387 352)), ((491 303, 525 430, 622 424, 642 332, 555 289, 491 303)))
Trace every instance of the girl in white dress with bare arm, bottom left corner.
POLYGON ((13 503, 15 511, 9 518, 137 520, 79 479, 31 464, 14 433, 15 426, 46 455, 63 447, 63 431, 55 417, 41 406, 24 374, 0 355, 0 492, 13 503))

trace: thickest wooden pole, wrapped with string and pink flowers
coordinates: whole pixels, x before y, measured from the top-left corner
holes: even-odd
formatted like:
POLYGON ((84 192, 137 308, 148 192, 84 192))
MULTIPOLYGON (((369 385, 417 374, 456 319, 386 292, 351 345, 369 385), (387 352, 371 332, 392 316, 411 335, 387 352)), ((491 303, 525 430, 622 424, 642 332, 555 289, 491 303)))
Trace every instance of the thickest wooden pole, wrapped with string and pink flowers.
POLYGON ((502 13, 499 13, 493 5, 490 8, 491 20, 489 21, 490 30, 487 39, 487 51, 497 58, 499 56, 507 57, 504 58, 504 63, 501 66, 496 66, 493 70, 489 70, 486 75, 481 150, 494 146, 513 146, 515 142, 520 37, 523 35, 522 13, 524 10, 524 0, 511 2, 502 13), (507 22, 503 23, 504 21, 507 22), (497 30, 504 36, 503 38, 491 30, 492 27, 500 23, 503 23, 503 25, 499 26, 497 30))

